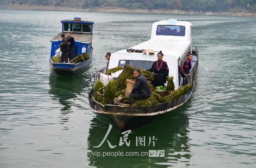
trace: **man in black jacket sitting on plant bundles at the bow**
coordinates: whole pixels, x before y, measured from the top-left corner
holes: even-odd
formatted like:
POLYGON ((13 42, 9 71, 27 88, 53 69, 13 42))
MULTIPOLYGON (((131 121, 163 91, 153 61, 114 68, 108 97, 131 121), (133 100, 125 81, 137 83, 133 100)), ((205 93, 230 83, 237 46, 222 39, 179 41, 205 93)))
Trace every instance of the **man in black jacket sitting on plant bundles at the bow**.
POLYGON ((136 100, 147 99, 151 95, 148 80, 140 74, 140 70, 134 70, 133 76, 136 78, 136 82, 129 94, 130 105, 134 104, 136 100))

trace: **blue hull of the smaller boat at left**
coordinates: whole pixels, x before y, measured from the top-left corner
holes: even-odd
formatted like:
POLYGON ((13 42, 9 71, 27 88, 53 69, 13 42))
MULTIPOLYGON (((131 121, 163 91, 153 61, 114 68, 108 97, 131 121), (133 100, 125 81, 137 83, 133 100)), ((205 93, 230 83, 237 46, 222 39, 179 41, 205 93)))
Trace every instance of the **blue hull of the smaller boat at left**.
POLYGON ((49 62, 52 70, 54 70, 58 75, 76 75, 86 70, 90 60, 91 58, 78 64, 54 63, 51 59, 49 62))

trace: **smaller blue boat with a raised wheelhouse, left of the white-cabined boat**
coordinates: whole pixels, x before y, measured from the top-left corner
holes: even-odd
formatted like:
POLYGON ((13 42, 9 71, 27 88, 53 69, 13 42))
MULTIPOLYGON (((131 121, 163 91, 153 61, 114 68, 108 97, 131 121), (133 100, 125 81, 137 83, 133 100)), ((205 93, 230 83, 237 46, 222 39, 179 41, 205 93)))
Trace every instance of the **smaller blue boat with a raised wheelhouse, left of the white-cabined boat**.
POLYGON ((92 25, 94 22, 81 20, 81 18, 74 18, 74 20, 62 20, 62 32, 55 36, 51 42, 51 54, 50 54, 50 66, 58 75, 76 75, 78 73, 84 72, 88 66, 92 57, 92 25), (52 62, 51 58, 53 56, 60 55, 60 52, 56 52, 58 46, 62 43, 61 34, 64 33, 67 37, 68 32, 75 39, 73 48, 73 58, 78 54, 83 54, 86 52, 90 59, 84 62, 79 62, 77 64, 73 63, 55 63, 52 62))

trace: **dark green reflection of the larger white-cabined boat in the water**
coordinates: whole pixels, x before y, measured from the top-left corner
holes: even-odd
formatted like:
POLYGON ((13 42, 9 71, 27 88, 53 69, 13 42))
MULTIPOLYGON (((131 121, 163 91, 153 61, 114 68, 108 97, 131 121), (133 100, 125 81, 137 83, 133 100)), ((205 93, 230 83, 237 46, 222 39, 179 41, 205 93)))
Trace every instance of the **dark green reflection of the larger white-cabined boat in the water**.
MULTIPOLYGON (((174 110, 172 113, 164 114, 160 118, 151 122, 150 124, 144 125, 141 128, 133 130, 128 135, 128 140, 130 140, 130 146, 125 143, 119 146, 120 137, 123 136, 120 130, 113 125, 110 134, 108 134, 107 140, 112 145, 117 145, 116 148, 111 149, 108 142, 105 141, 99 148, 94 148, 93 146, 98 146, 102 142, 104 135, 108 130, 107 118, 102 116, 97 116, 93 118, 91 128, 89 130, 88 137, 88 158, 90 160, 90 166, 96 166, 98 168, 106 167, 150 167, 159 168, 172 166, 180 162, 182 167, 189 166, 190 158, 190 146, 188 145, 188 124, 189 119, 186 114, 180 115, 182 110, 188 108, 189 103, 185 104, 180 110, 174 110), (150 130, 150 131, 149 131, 150 130), (145 146, 136 146, 136 137, 145 136, 145 146), (150 143, 149 138, 157 139, 155 140, 155 146, 150 143), (148 156, 98 156, 96 152, 138 152, 142 154, 148 152, 148 150, 165 150, 165 157, 148 157, 148 156), (181 164, 182 163, 182 164, 181 164)), ((133 153, 134 154, 134 153, 133 153)))

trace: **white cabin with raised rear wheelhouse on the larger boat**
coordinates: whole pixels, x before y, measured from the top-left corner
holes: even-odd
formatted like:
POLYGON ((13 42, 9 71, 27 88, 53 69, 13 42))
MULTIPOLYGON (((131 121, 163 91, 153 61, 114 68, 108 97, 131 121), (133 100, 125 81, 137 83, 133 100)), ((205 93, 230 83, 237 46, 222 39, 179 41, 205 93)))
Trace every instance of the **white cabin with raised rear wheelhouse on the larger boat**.
POLYGON ((169 76, 174 77, 175 89, 180 86, 178 65, 183 66, 186 53, 192 53, 192 24, 177 20, 162 20, 152 24, 150 40, 131 47, 132 49, 153 49, 154 54, 127 52, 120 50, 111 54, 108 68, 130 64, 136 68, 149 69, 157 60, 157 53, 162 51, 163 60, 169 67, 169 76))

